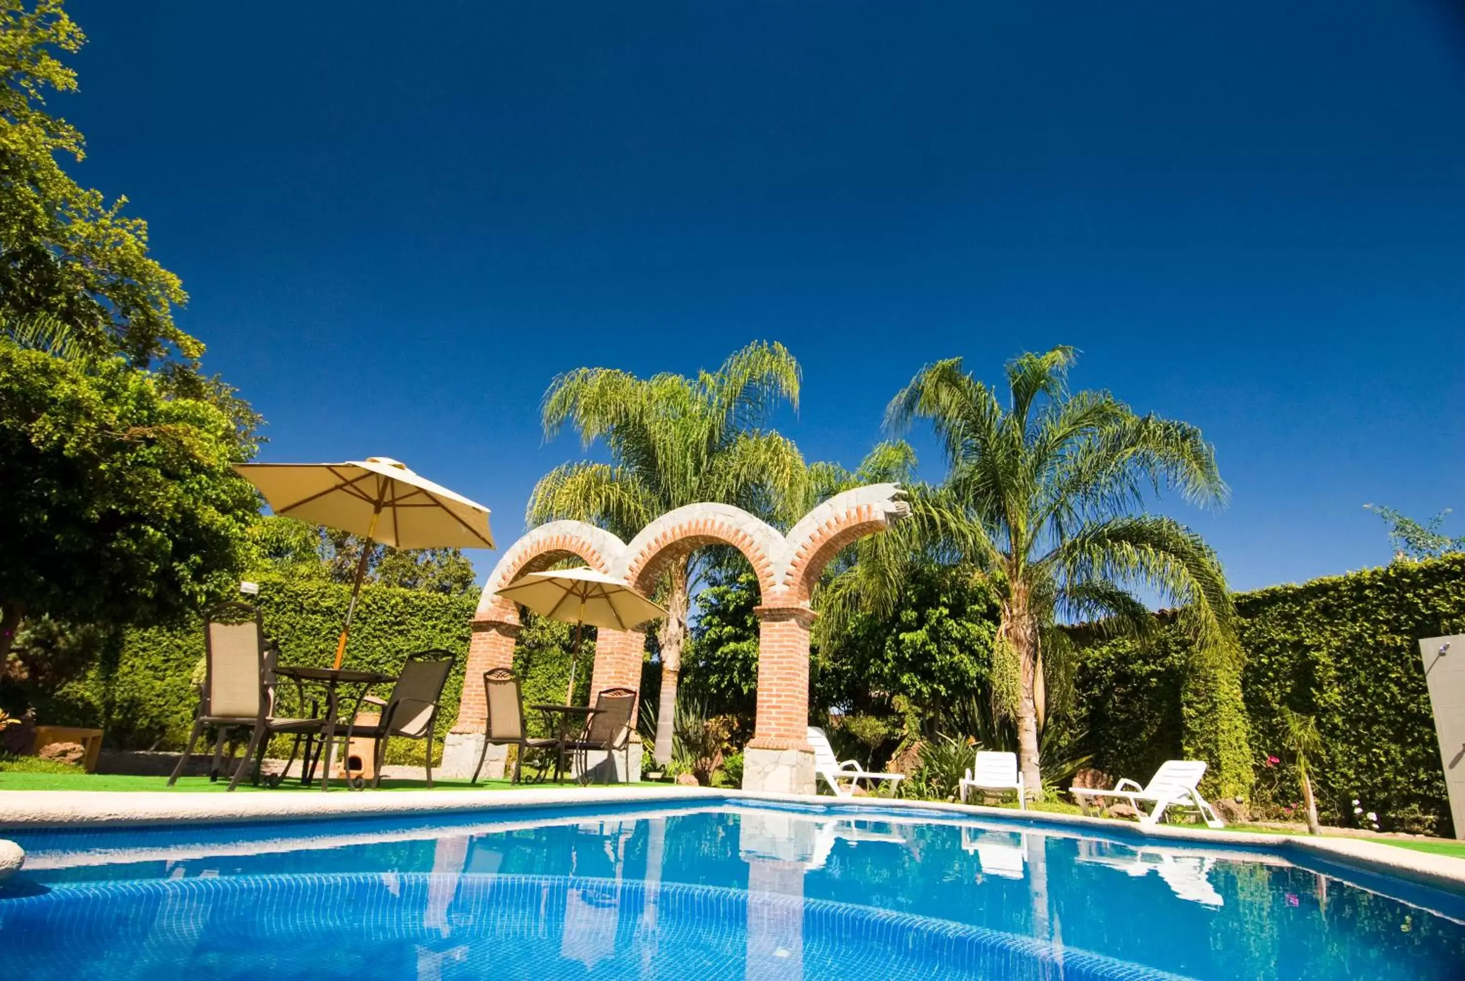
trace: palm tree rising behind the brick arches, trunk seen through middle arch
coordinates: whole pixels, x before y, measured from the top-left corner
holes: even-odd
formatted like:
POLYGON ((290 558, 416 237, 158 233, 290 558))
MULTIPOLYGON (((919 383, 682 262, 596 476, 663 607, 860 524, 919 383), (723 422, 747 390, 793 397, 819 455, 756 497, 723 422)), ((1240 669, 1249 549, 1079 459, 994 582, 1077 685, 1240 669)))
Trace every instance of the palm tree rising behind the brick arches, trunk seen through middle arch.
MULTIPOLYGON (((637 378, 612 368, 560 375, 545 392, 545 438, 571 424, 586 449, 604 443, 611 462, 565 463, 546 474, 529 499, 529 523, 586 521, 630 541, 659 515, 700 501, 735 504, 787 523, 804 500, 807 468, 793 441, 760 427, 779 402, 798 408, 798 381, 794 356, 763 342, 696 378, 637 378)), ((703 566, 703 556, 678 559, 662 589, 667 619, 656 633, 662 683, 655 742, 661 763, 671 760, 687 607, 703 566)))

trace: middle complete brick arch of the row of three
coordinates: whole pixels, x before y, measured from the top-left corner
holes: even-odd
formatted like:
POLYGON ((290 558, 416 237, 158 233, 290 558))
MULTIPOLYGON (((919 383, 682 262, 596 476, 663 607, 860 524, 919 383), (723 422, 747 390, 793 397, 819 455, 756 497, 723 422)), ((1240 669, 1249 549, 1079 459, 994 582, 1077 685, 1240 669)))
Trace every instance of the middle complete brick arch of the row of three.
POLYGON ((621 575, 631 588, 649 595, 667 566, 705 545, 732 545, 741 551, 757 575, 765 603, 779 592, 775 563, 782 556, 784 537, 731 504, 687 504, 650 522, 626 545, 621 575))

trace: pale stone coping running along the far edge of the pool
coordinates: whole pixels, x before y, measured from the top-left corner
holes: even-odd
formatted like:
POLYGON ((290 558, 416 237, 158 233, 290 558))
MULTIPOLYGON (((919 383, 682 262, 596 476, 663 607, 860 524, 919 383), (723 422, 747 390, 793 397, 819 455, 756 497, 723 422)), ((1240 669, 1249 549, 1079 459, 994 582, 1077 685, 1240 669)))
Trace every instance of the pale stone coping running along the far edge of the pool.
MULTIPOLYGON (((721 787, 636 786, 636 787, 516 787, 510 790, 390 790, 353 793, 177 793, 149 790, 0 790, 0 837, 6 830, 56 827, 110 827, 126 824, 230 823, 230 821, 312 821, 338 817, 381 817, 391 814, 472 814, 501 812, 511 808, 563 805, 626 805, 706 801, 746 801, 756 804, 797 805, 826 812, 924 811, 941 812, 946 820, 987 818, 1005 824, 1071 827, 1075 833, 1105 834, 1149 840, 1154 845, 1223 846, 1263 850, 1288 859, 1321 859, 1364 872, 1403 878, 1453 894, 1465 894, 1465 859, 1431 855, 1379 842, 1348 837, 1302 837, 1213 831, 1201 827, 1144 827, 1131 821, 1015 811, 935 801, 900 798, 804 796, 754 793, 721 787), (948 817, 949 815, 949 817, 948 817)), ((919 820, 916 814, 911 820, 919 820)))

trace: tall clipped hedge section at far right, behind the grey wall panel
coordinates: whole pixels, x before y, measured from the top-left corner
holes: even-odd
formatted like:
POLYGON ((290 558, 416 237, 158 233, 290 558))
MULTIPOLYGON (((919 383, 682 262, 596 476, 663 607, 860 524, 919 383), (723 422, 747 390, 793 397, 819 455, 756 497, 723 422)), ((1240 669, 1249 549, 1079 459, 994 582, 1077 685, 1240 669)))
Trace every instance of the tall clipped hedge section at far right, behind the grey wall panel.
MULTIPOLYGON (((1449 830, 1449 798, 1418 641, 1465 631, 1465 556, 1273 587, 1236 597, 1254 745, 1283 758, 1272 804, 1298 792, 1282 752, 1280 707, 1317 716, 1324 820, 1352 801, 1386 828, 1449 830)), ((1266 787, 1263 782, 1263 787, 1266 787)))

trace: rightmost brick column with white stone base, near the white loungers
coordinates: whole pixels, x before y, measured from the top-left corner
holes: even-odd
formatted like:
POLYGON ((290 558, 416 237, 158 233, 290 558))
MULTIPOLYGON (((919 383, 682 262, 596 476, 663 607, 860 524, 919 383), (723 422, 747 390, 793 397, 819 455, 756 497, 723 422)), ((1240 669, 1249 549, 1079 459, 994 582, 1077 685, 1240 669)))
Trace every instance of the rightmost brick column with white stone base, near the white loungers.
POLYGON ((743 789, 813 793, 813 748, 809 745, 807 606, 766 604, 753 610, 757 633, 757 720, 743 752, 743 789))

